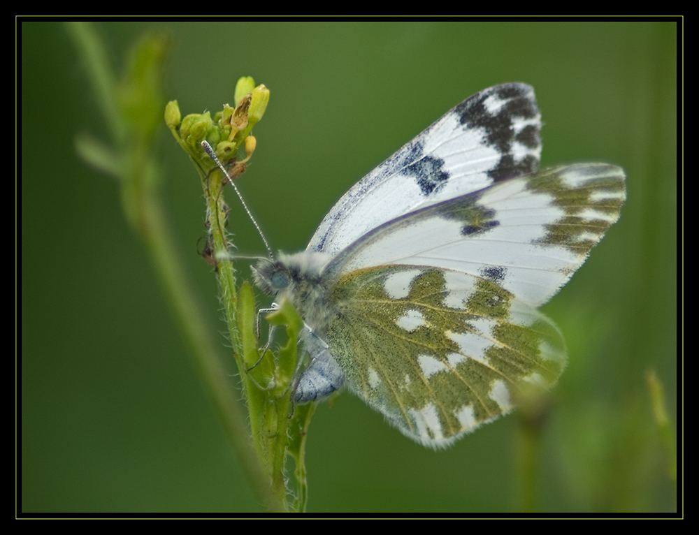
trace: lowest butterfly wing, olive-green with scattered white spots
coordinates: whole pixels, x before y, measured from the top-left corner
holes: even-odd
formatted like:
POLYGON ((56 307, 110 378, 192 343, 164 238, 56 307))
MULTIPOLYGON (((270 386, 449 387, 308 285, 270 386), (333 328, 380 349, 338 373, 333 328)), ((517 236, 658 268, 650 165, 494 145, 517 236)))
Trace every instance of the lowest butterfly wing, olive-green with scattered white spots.
POLYGON ((329 294, 328 343, 363 397, 408 437, 448 445, 512 408, 526 383, 558 379, 555 326, 496 282, 387 265, 349 273, 329 294))

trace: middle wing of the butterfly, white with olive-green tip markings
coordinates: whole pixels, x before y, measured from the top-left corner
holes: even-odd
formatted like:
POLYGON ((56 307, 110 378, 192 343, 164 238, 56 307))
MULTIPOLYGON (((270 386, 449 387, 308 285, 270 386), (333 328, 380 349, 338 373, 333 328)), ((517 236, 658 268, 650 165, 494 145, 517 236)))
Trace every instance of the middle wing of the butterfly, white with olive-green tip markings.
POLYGON ((619 167, 542 170, 384 223, 336 256, 327 272, 433 266, 491 280, 537 307, 582 265, 619 218, 624 198, 619 167))

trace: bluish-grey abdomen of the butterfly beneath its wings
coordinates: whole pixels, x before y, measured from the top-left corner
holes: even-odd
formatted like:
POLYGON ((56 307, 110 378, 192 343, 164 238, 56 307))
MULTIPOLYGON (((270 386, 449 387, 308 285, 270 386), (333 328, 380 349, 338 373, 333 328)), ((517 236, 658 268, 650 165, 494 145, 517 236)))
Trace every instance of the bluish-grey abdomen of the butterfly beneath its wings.
POLYGON ((306 326, 302 335, 310 365, 298 376, 294 387, 294 402, 322 400, 345 384, 345 374, 330 353, 328 344, 306 326))

